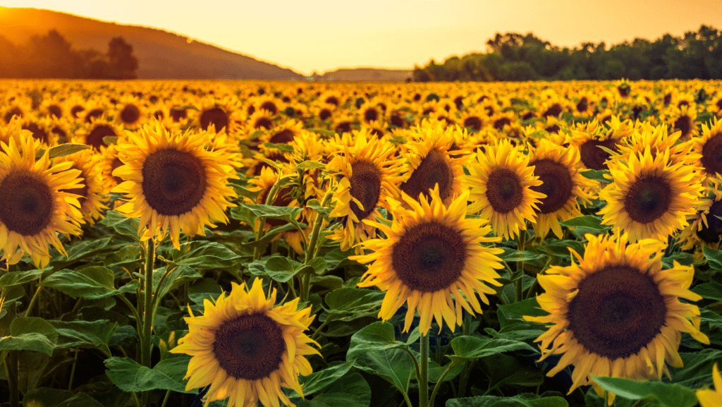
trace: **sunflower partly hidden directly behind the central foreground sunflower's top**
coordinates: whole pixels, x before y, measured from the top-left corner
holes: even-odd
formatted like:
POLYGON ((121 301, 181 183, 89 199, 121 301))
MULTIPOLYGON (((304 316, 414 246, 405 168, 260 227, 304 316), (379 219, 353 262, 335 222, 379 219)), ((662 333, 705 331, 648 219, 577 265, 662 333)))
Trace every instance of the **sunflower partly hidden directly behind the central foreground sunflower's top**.
POLYGON ((410 197, 422 194, 429 199, 430 190, 438 185, 441 200, 448 205, 461 193, 461 176, 464 175, 461 165, 466 159, 466 152, 458 159, 451 158, 450 153, 456 134, 462 131, 458 127, 445 129, 441 123, 425 121, 424 124, 412 132, 414 140, 404 144, 402 155, 406 158, 409 179, 401 184, 400 189, 410 197))

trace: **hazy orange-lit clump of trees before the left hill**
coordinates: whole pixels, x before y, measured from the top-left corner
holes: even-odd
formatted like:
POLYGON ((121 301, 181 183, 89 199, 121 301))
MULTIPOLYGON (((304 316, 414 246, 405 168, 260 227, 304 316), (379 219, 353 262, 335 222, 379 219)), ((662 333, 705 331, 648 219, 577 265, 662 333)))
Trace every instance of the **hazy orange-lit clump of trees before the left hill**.
POLYGON ((17 46, 0 36, 0 77, 58 79, 134 79, 138 59, 122 37, 108 43, 108 52, 75 50, 58 33, 34 35, 17 46))

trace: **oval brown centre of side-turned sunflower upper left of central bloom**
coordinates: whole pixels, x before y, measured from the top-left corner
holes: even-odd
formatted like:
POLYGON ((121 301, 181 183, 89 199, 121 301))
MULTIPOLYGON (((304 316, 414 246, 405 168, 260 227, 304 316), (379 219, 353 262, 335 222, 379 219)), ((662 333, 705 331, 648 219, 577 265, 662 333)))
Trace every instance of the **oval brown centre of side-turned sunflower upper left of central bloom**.
POLYGON ((367 218, 378 206, 381 196, 381 171, 369 160, 358 160, 351 164, 351 196, 355 197, 363 210, 351 202, 349 206, 356 218, 361 221, 367 218))

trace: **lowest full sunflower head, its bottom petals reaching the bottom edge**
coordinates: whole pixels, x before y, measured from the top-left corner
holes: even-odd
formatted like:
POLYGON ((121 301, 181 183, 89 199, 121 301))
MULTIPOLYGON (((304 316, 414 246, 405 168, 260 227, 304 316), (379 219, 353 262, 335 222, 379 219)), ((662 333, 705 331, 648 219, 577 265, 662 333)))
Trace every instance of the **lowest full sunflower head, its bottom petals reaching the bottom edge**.
POLYGON ((318 344, 303 331, 313 321, 310 307, 298 308, 298 299, 279 307, 276 290, 268 299, 261 279, 251 290, 232 283, 230 296, 221 294, 215 304, 204 301, 204 314, 191 317, 188 335, 178 340, 174 354, 193 356, 188 363, 186 390, 210 385, 207 403, 228 399, 227 407, 294 406, 281 387, 303 396, 298 375, 312 372, 305 355, 318 354, 318 344))

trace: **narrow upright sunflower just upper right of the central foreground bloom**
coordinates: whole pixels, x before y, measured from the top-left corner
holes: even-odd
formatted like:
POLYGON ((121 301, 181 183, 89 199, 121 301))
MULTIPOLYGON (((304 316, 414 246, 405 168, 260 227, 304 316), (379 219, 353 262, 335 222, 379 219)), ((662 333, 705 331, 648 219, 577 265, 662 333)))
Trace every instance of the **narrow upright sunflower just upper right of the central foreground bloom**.
POLYGON ((514 239, 520 228, 526 230, 526 220, 536 221, 536 204, 546 195, 532 189, 540 187, 541 181, 518 147, 504 139, 486 150, 471 160, 470 175, 464 177, 464 184, 471 189, 469 212, 489 219, 497 236, 514 239))

